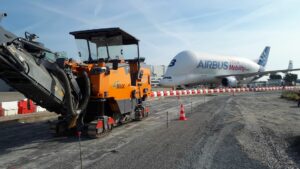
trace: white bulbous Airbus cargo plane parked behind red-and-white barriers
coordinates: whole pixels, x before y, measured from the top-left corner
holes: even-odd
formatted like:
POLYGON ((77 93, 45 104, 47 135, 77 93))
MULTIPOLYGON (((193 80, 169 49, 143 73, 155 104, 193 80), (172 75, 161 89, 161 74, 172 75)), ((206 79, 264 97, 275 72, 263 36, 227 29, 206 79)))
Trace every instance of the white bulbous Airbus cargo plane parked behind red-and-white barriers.
POLYGON ((276 72, 300 69, 265 71, 270 47, 265 47, 257 62, 232 56, 214 56, 182 51, 170 62, 160 85, 186 87, 199 84, 217 84, 237 87, 276 72))

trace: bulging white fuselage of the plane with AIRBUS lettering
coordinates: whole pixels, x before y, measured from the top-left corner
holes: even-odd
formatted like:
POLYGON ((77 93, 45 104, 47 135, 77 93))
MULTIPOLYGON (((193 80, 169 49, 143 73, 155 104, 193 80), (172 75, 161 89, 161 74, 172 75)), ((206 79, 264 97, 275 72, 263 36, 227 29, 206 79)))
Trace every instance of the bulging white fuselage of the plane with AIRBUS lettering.
MULTIPOLYGON (((171 61, 160 84, 165 87, 197 84, 220 84, 218 76, 253 73, 262 70, 257 63, 239 57, 196 54, 183 51, 171 61)), ((237 79, 250 82, 254 77, 237 79)))

